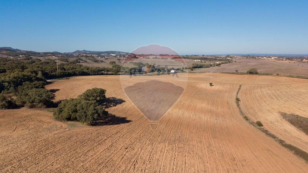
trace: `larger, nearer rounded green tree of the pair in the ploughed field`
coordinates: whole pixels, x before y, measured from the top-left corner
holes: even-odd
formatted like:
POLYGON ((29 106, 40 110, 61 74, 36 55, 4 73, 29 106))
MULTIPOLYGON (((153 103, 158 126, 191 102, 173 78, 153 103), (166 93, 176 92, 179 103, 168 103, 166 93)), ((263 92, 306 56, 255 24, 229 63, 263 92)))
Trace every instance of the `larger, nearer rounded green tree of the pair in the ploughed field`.
POLYGON ((64 100, 54 112, 57 120, 76 120, 82 123, 91 123, 102 116, 106 116, 107 111, 99 103, 82 99, 64 100))

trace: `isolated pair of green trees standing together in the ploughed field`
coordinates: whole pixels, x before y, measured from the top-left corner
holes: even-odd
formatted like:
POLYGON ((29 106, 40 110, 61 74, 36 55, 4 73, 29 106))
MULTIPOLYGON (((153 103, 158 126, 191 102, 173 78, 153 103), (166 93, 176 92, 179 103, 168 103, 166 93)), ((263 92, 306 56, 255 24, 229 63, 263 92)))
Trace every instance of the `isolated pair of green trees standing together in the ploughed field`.
POLYGON ((77 99, 63 100, 56 111, 57 120, 79 121, 90 124, 108 115, 100 104, 106 99, 106 90, 92 88, 79 95, 77 99))

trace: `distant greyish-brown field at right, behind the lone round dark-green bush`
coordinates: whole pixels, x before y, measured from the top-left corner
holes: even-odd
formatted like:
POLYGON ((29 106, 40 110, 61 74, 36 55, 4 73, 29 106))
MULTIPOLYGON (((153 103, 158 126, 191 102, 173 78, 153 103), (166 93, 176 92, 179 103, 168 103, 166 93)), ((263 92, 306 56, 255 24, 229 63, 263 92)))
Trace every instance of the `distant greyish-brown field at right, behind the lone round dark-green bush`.
POLYGON ((238 59, 236 62, 229 64, 222 64, 221 66, 211 68, 201 68, 194 70, 193 73, 219 73, 219 72, 247 72, 251 68, 258 69, 259 73, 270 74, 285 74, 285 75, 298 75, 308 76, 308 63, 303 62, 290 62, 289 61, 271 61, 271 60, 245 60, 238 59))

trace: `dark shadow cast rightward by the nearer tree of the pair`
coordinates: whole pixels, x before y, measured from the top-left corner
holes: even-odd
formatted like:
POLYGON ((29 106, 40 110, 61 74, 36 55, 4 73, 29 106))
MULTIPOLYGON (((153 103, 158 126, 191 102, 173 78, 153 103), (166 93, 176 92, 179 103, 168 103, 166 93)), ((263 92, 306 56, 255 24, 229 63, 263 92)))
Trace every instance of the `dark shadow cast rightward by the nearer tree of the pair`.
POLYGON ((107 116, 103 116, 101 119, 92 122, 91 126, 108 126, 108 125, 117 125, 132 122, 132 120, 128 120, 126 117, 118 117, 113 114, 108 114, 107 116))

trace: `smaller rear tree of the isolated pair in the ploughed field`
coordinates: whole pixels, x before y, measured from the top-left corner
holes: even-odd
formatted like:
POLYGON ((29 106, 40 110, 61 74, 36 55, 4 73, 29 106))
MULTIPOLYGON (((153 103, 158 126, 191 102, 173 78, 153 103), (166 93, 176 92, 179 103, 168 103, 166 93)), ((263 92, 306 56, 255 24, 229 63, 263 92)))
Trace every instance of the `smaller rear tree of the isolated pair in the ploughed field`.
POLYGON ((88 100, 88 101, 96 101, 100 102, 103 99, 106 99, 105 96, 106 90, 102 88, 92 88, 85 91, 83 94, 79 95, 79 99, 88 100))

